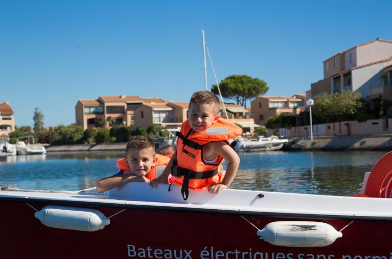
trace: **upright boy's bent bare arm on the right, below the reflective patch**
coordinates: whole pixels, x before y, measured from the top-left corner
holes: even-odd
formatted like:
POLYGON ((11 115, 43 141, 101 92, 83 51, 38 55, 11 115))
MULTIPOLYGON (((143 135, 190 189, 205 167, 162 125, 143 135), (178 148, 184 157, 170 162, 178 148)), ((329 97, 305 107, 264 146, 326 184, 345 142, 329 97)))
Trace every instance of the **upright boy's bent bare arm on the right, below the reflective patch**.
POLYGON ((227 161, 226 173, 220 183, 213 184, 208 189, 211 194, 218 194, 220 190, 227 189, 237 174, 240 157, 226 142, 213 141, 209 143, 211 149, 227 161))

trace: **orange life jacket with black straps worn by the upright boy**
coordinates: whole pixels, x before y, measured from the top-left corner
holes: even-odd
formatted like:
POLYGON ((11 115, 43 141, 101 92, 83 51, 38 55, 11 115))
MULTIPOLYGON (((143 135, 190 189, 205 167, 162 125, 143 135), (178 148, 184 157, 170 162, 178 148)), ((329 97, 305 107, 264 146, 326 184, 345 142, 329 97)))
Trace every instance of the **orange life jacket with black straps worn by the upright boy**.
POLYGON ((222 172, 218 172, 223 158, 218 156, 215 164, 204 164, 203 150, 205 144, 211 141, 225 141, 241 135, 242 129, 237 125, 218 119, 216 123, 200 132, 195 132, 189 125, 189 120, 181 124, 176 132, 177 151, 172 162, 174 184, 181 185, 184 200, 188 198, 189 188, 206 190, 211 184, 221 182, 222 172), (185 195, 184 195, 185 194, 185 195))

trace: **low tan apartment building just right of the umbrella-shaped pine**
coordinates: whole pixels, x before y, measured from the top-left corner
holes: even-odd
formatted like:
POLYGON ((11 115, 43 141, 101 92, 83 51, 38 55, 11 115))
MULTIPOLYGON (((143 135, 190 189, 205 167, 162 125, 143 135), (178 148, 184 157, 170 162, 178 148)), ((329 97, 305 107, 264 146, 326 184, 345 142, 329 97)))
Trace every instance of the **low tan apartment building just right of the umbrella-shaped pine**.
POLYGON ((291 97, 259 96, 250 102, 253 119, 256 124, 281 113, 298 114, 306 107, 306 94, 294 94, 291 97))

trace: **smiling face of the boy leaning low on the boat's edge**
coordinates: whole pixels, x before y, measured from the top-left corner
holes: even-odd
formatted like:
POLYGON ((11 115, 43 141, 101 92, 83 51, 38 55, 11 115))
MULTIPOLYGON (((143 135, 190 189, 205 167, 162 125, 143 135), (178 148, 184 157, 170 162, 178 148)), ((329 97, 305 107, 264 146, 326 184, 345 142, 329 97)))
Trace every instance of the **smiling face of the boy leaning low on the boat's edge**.
POLYGON ((137 176, 146 176, 151 167, 155 166, 157 158, 152 149, 128 150, 125 158, 131 173, 137 176))

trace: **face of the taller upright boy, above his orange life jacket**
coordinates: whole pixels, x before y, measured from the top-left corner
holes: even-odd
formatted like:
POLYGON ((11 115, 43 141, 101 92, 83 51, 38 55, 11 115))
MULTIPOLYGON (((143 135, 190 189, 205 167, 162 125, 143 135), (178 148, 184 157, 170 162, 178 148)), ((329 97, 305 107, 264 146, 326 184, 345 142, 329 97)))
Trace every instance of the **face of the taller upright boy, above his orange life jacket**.
POLYGON ((191 103, 188 113, 189 124, 196 132, 207 129, 219 119, 219 115, 213 104, 199 105, 191 103))

